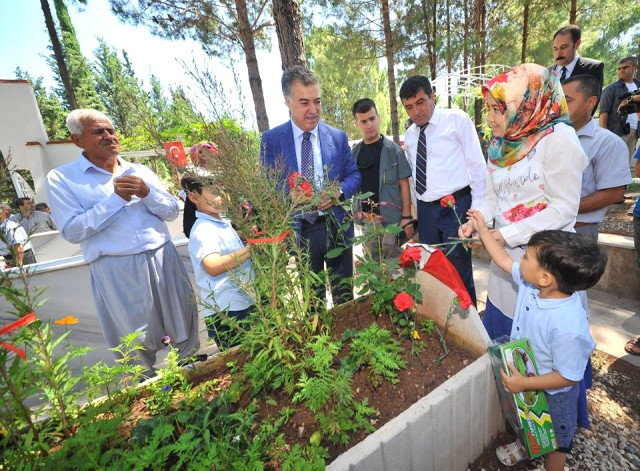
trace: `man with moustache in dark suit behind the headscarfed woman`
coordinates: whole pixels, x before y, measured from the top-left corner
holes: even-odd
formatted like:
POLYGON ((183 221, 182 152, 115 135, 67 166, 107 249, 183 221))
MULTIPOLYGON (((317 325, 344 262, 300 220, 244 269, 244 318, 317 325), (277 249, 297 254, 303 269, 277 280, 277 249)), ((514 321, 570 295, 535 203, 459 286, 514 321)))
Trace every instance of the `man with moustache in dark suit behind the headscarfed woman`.
MULTIPOLYGON (((600 84, 600 89, 598 90, 599 102, 602 85, 604 84, 604 62, 582 57, 578 54, 578 47, 582 42, 581 38, 582 33, 576 25, 564 26, 556 31, 556 34, 553 35, 553 59, 556 64, 550 66, 549 70, 555 70, 561 82, 576 75, 591 75, 595 77, 600 84)), ((598 102, 593 107, 592 116, 598 107, 598 102)))

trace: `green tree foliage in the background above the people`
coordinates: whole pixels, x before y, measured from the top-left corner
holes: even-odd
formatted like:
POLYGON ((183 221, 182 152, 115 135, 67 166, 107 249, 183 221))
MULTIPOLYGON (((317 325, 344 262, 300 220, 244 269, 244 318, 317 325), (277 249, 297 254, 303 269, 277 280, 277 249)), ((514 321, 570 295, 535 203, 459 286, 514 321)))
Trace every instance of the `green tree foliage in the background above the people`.
MULTIPOLYGON (((204 123, 211 117, 204 117, 198 112, 190 94, 191 84, 167 88, 154 76, 145 83, 136 76, 126 51, 110 47, 105 39, 100 39, 93 58, 83 57, 65 1, 53 0, 52 3, 56 7, 57 28, 68 56, 78 99, 83 106, 105 110, 113 119, 123 139, 123 150, 157 148, 163 140, 176 139, 191 145, 207 138, 204 123)), ((77 0, 72 5, 85 3, 77 0)), ((268 21, 269 10, 265 14, 262 10, 264 4, 254 3, 248 2, 247 7, 256 22, 256 45, 263 49, 275 47, 269 39, 273 32, 273 23, 268 21)), ((510 66, 519 63, 526 4, 529 5, 529 15, 525 60, 550 65, 553 63, 553 33, 569 22, 571 2, 568 0, 391 2, 396 87, 415 73, 433 75, 432 64, 437 77, 447 73, 447 64, 452 71, 463 71, 465 66, 478 65, 478 57, 482 57, 486 64, 510 66), (479 9, 486 12, 484 30, 480 32, 473 24, 474 12, 479 9), (430 42, 433 42, 432 49, 428 47, 430 42)), ((241 54, 241 49, 237 47, 237 39, 234 43, 233 38, 224 36, 222 28, 226 13, 212 9, 211 5, 199 0, 154 4, 152 13, 157 21, 151 23, 128 2, 112 0, 111 6, 122 21, 146 25, 153 34, 165 38, 193 37, 210 54, 228 59, 234 66, 238 64, 237 55, 241 54), (195 7, 200 10, 194 10, 195 7), (166 20, 171 16, 167 13, 176 9, 190 12, 190 16, 181 20, 185 23, 184 28, 180 26, 181 22, 166 20)), ((576 6, 576 23, 583 32, 579 52, 603 60, 605 85, 611 83, 616 79, 617 61, 640 53, 640 31, 637 28, 640 3, 578 0, 576 6)), ((369 97, 376 102, 380 112, 381 131, 390 134, 381 3, 309 0, 302 4, 302 8, 307 32, 304 38, 307 58, 322 86, 325 120, 344 129, 351 139, 359 138, 351 106, 356 100, 369 97)), ((52 67, 55 67, 53 61, 52 67)), ((262 71, 265 72, 280 73, 279 70, 262 71)), ((42 78, 31 77, 28 71, 18 69, 16 76, 32 81, 49 138, 67 137, 63 121, 68 105, 60 86, 47 90, 42 85, 42 78)), ((446 106, 446 103, 440 105, 446 106)), ((459 105, 454 103, 453 106, 459 105)), ((406 114, 401 106, 399 108, 402 124, 406 114)))

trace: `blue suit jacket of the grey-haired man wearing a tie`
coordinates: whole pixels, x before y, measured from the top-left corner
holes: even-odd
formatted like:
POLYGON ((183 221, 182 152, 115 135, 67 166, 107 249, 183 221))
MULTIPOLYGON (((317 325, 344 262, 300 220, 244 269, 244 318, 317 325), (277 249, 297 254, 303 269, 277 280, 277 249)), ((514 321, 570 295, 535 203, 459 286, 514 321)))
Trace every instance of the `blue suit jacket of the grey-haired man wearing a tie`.
MULTIPOLYGON (((332 128, 320 121, 318 123, 318 138, 320 141, 320 153, 322 154, 322 165, 327 168, 328 178, 340 183, 344 197, 351 198, 360 189, 360 171, 356 166, 353 155, 351 155, 347 135, 343 131, 332 128)), ((272 167, 276 167, 280 159, 283 159, 283 186, 286 191, 289 191, 289 187, 286 185, 289 174, 300 171, 293 142, 291 121, 287 121, 262 134, 260 159, 262 163, 272 167)), ((344 210, 340 206, 334 206, 332 209, 336 220, 342 222, 344 210)), ((349 228, 348 235, 353 235, 353 225, 349 228)))

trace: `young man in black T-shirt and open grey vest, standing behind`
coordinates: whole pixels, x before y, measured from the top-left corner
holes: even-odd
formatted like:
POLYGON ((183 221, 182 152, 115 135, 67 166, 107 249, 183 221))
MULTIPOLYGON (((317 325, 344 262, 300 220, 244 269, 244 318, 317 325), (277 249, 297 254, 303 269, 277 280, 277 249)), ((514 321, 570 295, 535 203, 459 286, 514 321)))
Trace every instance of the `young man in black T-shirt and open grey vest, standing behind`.
MULTIPOLYGON (((380 134, 380 116, 372 100, 362 98, 356 101, 351 111, 362 135, 362 141, 352 149, 362 176, 360 192, 373 193, 369 200, 361 202, 362 213, 356 213, 356 221, 364 224, 367 219, 371 219, 371 222, 381 219, 383 226, 399 224, 404 228, 407 238, 411 238, 411 167, 404 151, 380 134), (369 213, 369 218, 366 213, 369 213)), ((369 239, 363 248, 374 260, 379 259, 380 251, 385 258, 399 257, 402 252, 395 234, 369 239)))

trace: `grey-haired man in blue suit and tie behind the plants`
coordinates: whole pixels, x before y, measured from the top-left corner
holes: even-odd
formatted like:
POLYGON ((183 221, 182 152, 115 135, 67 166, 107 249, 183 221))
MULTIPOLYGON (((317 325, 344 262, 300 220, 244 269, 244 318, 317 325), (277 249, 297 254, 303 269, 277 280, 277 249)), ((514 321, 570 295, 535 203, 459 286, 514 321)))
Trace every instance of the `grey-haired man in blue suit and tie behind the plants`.
MULTIPOLYGON (((358 191, 360 172, 346 134, 320 121, 318 79, 308 69, 294 66, 282 74, 282 93, 291 120, 262 135, 260 157, 264 164, 283 169, 283 182, 299 172, 322 196, 316 210, 299 217, 298 234, 312 270, 320 273, 326 263, 333 302, 340 304, 353 299, 353 250, 349 246, 336 258, 326 255, 336 246, 350 244, 353 224, 346 233, 339 231, 345 218, 339 202, 358 191)), ((289 191, 288 185, 283 188, 289 191)), ((304 199, 298 190, 290 194, 296 201, 304 199)), ((324 296, 324 286, 318 286, 318 295, 324 296)))

